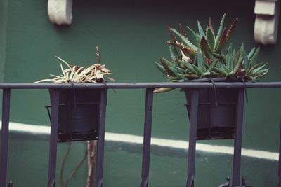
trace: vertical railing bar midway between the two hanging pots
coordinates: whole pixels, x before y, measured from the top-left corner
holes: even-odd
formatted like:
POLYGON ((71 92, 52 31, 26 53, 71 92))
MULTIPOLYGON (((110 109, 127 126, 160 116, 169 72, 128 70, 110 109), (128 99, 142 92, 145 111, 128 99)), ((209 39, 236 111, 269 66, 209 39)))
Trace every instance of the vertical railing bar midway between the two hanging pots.
POLYGON ((145 122, 143 130, 143 163, 141 169, 141 187, 148 187, 150 169, 150 141, 152 129, 153 89, 146 89, 145 93, 145 122))

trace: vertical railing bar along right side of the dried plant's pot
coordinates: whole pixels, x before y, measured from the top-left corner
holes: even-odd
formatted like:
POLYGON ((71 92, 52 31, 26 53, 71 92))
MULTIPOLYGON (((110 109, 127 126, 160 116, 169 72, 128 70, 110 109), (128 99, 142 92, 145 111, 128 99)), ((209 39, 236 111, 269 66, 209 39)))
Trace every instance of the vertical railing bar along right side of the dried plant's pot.
POLYGON ((103 157, 105 149, 105 114, 107 104, 107 90, 100 91, 100 114, 98 123, 98 148, 96 157, 96 187, 103 186, 103 157))

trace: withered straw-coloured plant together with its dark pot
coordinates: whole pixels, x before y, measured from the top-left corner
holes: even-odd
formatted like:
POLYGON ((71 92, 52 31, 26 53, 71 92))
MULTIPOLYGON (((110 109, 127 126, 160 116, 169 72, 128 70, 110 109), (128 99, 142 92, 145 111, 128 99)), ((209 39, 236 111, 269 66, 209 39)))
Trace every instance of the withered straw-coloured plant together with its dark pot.
MULTIPOLYGON (((60 64, 62 74, 51 75, 54 78, 36 82, 70 83, 73 86, 71 90, 59 90, 58 142, 93 140, 98 137, 101 91, 100 89, 89 89, 86 86, 84 89, 74 88, 74 83, 104 83, 105 78, 115 81, 108 77, 112 74, 110 70, 100 64, 98 47, 97 56, 98 63, 92 64, 90 67, 73 66, 57 57, 66 66, 64 69, 63 64, 60 64)), ((53 97, 53 90, 50 89, 49 92, 50 97, 53 97)), ((51 106, 47 106, 47 109, 49 107, 51 106)))

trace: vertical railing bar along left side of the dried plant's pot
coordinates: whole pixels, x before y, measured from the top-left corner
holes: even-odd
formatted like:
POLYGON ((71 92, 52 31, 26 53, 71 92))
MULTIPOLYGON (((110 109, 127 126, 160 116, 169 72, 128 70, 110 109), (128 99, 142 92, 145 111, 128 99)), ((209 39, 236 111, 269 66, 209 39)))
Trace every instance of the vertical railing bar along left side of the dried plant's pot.
POLYGON ((48 160, 48 187, 55 186, 55 167, 57 159, 57 139, 58 139, 58 103, 59 90, 50 90, 51 95, 51 134, 48 160))

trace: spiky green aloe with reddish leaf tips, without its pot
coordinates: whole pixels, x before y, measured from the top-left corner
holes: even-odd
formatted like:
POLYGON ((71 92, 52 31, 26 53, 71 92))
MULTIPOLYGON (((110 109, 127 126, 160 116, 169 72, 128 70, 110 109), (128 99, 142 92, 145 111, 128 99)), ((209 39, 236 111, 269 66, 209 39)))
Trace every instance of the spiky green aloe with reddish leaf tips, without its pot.
MULTIPOLYGON (((235 19, 229 29, 223 28, 226 14, 221 19, 218 34, 214 34, 211 18, 206 32, 200 22, 197 22, 199 33, 187 27, 190 39, 183 26, 180 31, 169 27, 169 34, 173 41, 166 41, 169 46, 171 60, 160 58, 156 67, 168 76, 169 81, 188 81, 197 78, 242 78, 245 81, 254 80, 265 75, 269 69, 266 64, 258 63, 259 48, 252 48, 249 53, 244 50, 244 45, 235 50, 230 43, 226 47, 238 19, 235 19)), ((171 89, 158 89, 163 92, 171 89)))

